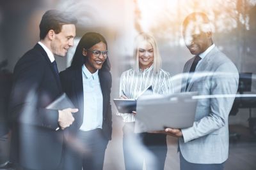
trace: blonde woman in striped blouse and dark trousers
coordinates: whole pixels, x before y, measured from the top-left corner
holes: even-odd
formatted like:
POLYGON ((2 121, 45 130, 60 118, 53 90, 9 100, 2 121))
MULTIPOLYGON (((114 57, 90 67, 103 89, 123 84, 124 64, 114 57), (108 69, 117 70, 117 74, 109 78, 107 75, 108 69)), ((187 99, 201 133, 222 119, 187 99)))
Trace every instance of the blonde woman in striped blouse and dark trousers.
MULTIPOLYGON (((154 94, 173 92, 170 74, 161 69, 161 56, 156 40, 149 34, 141 33, 135 39, 134 67, 121 76, 120 96, 125 99, 135 99, 150 85, 154 94)), ((146 169, 164 169, 167 153, 166 135, 147 132, 135 134, 134 113, 117 113, 125 122, 123 127, 125 169, 142 169, 143 160, 146 169)))

